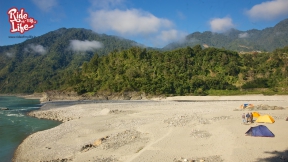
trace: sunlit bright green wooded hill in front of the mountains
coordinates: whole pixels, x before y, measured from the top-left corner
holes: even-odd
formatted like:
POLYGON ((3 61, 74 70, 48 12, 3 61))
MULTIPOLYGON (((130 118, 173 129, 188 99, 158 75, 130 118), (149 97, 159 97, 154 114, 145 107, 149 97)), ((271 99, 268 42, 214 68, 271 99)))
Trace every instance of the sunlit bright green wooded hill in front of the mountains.
POLYGON ((207 95, 287 87, 288 47, 273 53, 245 54, 200 45, 172 51, 134 47, 95 54, 65 85, 79 94, 138 91, 147 94, 207 95))

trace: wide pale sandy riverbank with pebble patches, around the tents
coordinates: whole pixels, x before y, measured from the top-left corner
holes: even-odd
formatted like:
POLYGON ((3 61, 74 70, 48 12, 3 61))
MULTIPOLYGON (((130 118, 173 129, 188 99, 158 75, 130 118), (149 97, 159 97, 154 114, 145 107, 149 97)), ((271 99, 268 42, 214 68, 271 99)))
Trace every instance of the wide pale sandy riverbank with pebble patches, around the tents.
POLYGON ((288 161, 287 96, 174 97, 57 109, 48 103, 31 115, 63 124, 26 138, 14 161, 288 161), (198 102, 187 102, 191 100, 198 102), (243 111, 235 109, 243 103, 285 109, 258 111, 274 117, 274 124, 242 124, 243 111), (245 136, 260 124, 275 137, 245 136))

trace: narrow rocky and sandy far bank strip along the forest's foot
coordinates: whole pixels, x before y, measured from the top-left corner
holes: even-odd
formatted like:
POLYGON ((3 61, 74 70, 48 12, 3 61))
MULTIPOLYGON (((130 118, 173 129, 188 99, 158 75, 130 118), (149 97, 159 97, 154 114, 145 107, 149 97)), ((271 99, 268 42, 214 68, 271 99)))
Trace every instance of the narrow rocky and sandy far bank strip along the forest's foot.
POLYGON ((263 94, 247 94, 247 95, 227 95, 227 96, 165 96, 165 95, 147 95, 141 92, 121 92, 111 93, 102 92, 95 94, 78 95, 76 92, 67 91, 47 91, 43 93, 33 94, 0 94, 0 96, 16 96, 26 99, 39 99, 41 103, 49 101, 84 101, 84 100, 192 100, 192 101, 215 101, 215 100, 279 100, 287 99, 288 95, 263 95, 263 94), (240 97, 239 97, 240 96, 240 97), (273 99, 274 98, 274 99, 273 99))

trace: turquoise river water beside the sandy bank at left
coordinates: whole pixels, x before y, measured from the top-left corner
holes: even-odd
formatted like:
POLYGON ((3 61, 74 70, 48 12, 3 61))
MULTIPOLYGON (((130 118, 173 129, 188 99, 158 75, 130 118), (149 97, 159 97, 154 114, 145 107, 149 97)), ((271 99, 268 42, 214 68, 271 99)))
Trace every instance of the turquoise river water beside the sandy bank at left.
POLYGON ((40 107, 37 99, 0 96, 0 161, 10 162, 18 145, 30 134, 55 127, 57 121, 32 118, 27 112, 40 107))

